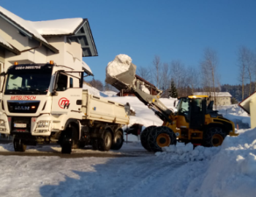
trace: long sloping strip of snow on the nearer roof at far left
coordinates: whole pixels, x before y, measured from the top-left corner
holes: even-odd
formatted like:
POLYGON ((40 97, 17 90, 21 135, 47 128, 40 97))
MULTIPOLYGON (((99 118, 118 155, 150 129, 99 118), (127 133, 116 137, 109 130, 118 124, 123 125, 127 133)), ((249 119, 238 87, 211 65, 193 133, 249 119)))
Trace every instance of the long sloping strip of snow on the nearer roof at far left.
POLYGON ((24 28, 26 31, 29 31, 30 34, 33 34, 37 39, 42 40, 43 42, 48 42, 37 32, 37 30, 31 25, 31 21, 24 20, 23 18, 18 17, 18 15, 13 14, 12 12, 4 9, 0 6, 0 15, 4 15, 4 18, 12 20, 18 26, 24 28))

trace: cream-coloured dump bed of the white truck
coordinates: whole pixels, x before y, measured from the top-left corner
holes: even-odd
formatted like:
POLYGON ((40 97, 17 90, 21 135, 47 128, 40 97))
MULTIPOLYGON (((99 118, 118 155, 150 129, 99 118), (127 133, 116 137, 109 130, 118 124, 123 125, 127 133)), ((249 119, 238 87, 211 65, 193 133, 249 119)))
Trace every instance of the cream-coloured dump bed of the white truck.
POLYGON ((129 124, 129 106, 108 101, 102 97, 93 96, 88 90, 83 90, 81 111, 88 120, 99 120, 108 123, 129 124))

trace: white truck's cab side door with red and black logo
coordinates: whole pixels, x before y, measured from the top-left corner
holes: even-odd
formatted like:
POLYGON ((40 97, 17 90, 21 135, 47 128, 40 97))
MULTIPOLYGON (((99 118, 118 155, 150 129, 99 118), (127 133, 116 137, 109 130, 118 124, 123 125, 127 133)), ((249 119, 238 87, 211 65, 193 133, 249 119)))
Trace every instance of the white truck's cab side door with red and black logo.
POLYGON ((68 114, 71 111, 80 111, 82 88, 80 78, 75 74, 59 72, 56 74, 53 93, 52 114, 68 114))

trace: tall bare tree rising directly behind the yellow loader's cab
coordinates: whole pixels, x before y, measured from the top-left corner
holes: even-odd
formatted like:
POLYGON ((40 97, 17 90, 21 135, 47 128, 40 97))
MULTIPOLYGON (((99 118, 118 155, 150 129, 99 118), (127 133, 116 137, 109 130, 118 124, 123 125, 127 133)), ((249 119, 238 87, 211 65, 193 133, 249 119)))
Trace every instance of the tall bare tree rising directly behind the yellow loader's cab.
POLYGON ((201 70, 203 73, 203 82, 205 82, 206 88, 213 92, 215 107, 217 107, 216 100, 216 82, 217 82, 217 52, 210 48, 206 48, 203 53, 203 61, 200 63, 201 70))

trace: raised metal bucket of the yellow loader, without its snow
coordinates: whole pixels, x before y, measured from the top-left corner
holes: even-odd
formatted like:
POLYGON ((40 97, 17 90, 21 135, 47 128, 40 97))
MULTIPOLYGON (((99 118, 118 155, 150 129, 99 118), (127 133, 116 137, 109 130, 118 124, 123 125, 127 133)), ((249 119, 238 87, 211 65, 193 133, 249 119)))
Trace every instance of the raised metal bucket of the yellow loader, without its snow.
POLYGON ((116 76, 106 76, 105 82, 110 85, 113 85, 118 90, 127 89, 132 85, 133 80, 135 79, 136 66, 133 63, 130 63, 129 69, 126 72, 117 74, 116 76))

